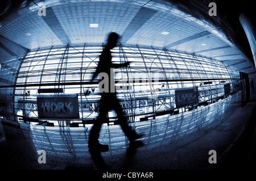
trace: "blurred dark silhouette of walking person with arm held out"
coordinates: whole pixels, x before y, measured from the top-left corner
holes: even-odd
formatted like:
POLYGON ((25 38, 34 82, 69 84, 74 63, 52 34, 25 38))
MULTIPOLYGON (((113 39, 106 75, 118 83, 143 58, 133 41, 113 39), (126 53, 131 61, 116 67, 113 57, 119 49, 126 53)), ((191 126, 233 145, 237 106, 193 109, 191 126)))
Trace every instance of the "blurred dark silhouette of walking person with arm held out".
MULTIPOLYGON (((101 130, 102 124, 106 123, 106 120, 107 120, 106 116, 110 108, 112 108, 115 111, 115 113, 117 113, 118 124, 121 126, 123 132, 125 133, 125 136, 129 138, 130 146, 138 143, 139 141, 136 141, 136 140, 143 136, 143 134, 136 133, 134 129, 132 129, 130 125, 127 123, 127 117, 122 110, 121 104, 119 104, 119 100, 117 99, 116 92, 113 91, 114 81, 111 81, 111 79, 113 79, 114 77, 112 73, 112 68, 126 67, 130 63, 130 62, 126 62, 123 64, 112 64, 112 54, 110 50, 116 47, 118 39, 119 39, 119 35, 117 33, 112 32, 109 34, 108 44, 105 46, 104 50, 100 55, 100 61, 98 62, 96 72, 93 74, 93 77, 92 77, 92 81, 93 81, 93 79, 96 78, 98 74, 106 73, 108 75, 107 78, 109 79, 108 79, 108 85, 104 85, 104 86, 107 86, 108 89, 105 89, 105 91, 100 93, 101 94, 101 99, 99 102, 100 112, 95 123, 93 124, 92 129, 90 130, 89 139, 88 139, 88 148, 90 150, 97 150, 100 152, 109 150, 108 145, 100 144, 98 141, 98 138, 100 136, 100 130, 101 130)), ((106 77, 104 77, 104 79, 105 78, 106 77)))

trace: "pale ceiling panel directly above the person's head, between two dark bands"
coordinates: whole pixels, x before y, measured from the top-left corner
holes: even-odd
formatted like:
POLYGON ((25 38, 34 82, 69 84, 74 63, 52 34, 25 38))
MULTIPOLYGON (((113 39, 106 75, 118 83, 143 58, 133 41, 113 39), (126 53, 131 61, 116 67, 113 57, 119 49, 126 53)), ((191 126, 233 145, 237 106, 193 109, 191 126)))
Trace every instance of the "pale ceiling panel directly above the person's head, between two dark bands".
POLYGON ((112 31, 122 35, 140 8, 108 2, 67 3, 52 7, 71 44, 102 44, 112 31), (90 23, 98 23, 98 28, 90 28, 90 23))

